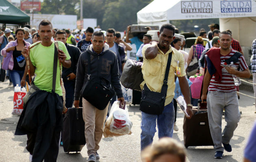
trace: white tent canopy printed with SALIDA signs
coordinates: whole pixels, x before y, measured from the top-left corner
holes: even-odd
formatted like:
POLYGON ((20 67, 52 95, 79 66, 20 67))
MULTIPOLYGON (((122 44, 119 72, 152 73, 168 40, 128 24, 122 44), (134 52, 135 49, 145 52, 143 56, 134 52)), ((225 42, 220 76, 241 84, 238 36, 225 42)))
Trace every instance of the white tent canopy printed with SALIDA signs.
POLYGON ((154 0, 137 13, 137 21, 160 25, 169 20, 255 16, 255 0, 154 0))

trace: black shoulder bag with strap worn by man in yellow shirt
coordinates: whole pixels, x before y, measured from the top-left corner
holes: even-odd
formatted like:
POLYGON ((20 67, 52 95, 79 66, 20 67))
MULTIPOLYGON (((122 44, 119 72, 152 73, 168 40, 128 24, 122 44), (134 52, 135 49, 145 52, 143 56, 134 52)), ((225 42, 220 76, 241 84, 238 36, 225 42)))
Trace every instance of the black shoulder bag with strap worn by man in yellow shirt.
POLYGON ((148 86, 145 84, 141 94, 141 103, 140 110, 144 113, 160 115, 163 113, 165 108, 165 98, 168 88, 168 75, 171 66, 171 56, 172 53, 169 53, 167 66, 165 70, 165 78, 163 80, 163 86, 161 93, 150 91, 148 86))

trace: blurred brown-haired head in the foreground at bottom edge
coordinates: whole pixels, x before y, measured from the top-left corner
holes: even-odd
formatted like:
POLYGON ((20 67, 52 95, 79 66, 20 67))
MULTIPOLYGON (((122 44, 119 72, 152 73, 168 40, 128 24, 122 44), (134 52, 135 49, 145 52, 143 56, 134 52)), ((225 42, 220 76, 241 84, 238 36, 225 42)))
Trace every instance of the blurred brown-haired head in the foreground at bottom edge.
POLYGON ((184 146, 176 139, 163 137, 141 152, 143 162, 185 162, 184 146))

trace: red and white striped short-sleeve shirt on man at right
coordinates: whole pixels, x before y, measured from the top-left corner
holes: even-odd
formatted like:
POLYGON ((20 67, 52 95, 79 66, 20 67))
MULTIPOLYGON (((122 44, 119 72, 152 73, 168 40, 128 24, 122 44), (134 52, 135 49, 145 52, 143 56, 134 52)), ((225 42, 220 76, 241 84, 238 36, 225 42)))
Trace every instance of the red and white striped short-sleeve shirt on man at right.
MULTIPOLYGON (((224 62, 225 60, 232 57, 234 53, 236 53, 236 50, 232 49, 228 55, 226 56, 221 55, 221 58, 220 58, 221 62, 224 62)), ((238 60, 239 62, 234 62, 234 65, 236 66, 236 68, 240 68, 240 71, 243 71, 248 68, 247 64, 245 63, 245 58, 243 57, 243 55, 241 55, 238 60)), ((227 65, 227 66, 230 66, 230 65, 227 65)), ((215 81, 215 75, 213 75, 212 79, 210 79, 209 91, 220 91, 220 92, 236 91, 236 87, 234 85, 234 79, 232 75, 225 68, 222 68, 221 72, 222 72, 221 83, 215 81)))

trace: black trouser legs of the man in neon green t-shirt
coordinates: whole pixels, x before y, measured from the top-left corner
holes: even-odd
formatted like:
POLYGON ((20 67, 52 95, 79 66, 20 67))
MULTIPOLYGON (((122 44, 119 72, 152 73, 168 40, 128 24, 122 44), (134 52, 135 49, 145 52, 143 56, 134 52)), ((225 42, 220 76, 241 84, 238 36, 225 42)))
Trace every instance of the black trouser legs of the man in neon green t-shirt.
MULTIPOLYGON (((56 162, 57 161, 58 153, 59 153, 60 133, 61 133, 60 131, 54 131, 50 147, 46 151, 46 154, 44 155, 44 158, 43 158, 44 162, 56 162)), ((36 133, 27 134, 28 140, 27 140, 26 149, 29 151, 30 155, 33 155, 36 136, 37 136, 36 133)), ((32 162, 33 162, 33 158, 32 158, 32 162)))

